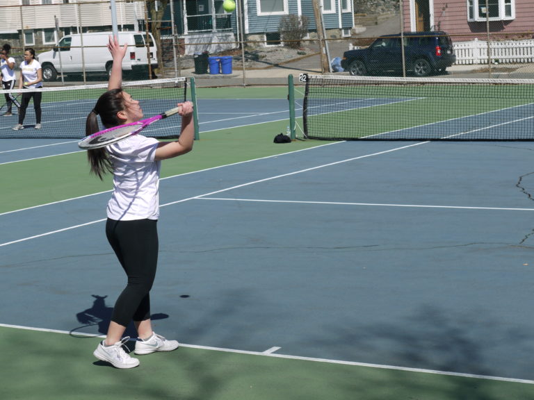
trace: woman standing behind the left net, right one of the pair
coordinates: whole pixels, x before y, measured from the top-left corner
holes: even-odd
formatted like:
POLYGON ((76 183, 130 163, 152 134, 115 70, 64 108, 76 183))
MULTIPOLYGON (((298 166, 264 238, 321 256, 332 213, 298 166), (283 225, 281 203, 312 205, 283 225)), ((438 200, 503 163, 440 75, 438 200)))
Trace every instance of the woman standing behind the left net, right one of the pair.
MULTIPOLYGON (((42 88, 42 68, 38 60, 35 60, 35 50, 24 50, 24 61, 20 63, 19 89, 42 88)), ((35 129, 41 128, 41 99, 42 92, 27 92, 22 94, 22 103, 19 110, 19 123, 13 126, 13 131, 24 129, 24 118, 26 108, 33 98, 33 109, 35 110, 35 129)))

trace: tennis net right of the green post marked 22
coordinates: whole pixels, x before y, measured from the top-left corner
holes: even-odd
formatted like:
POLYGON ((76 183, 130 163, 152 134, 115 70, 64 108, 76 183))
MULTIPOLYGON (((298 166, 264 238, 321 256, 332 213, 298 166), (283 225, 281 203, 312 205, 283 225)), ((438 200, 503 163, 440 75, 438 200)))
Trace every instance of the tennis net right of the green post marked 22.
POLYGON ((534 80, 305 76, 319 140, 534 140, 534 80))

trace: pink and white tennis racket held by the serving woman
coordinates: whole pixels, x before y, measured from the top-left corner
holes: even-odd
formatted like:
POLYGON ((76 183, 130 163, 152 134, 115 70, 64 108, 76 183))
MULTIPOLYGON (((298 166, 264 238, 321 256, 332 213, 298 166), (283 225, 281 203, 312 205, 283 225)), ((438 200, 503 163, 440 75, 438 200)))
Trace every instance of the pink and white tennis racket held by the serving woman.
POLYGON ((81 149, 99 149, 100 147, 106 147, 109 144, 120 142, 121 140, 129 138, 131 135, 137 135, 147 126, 154 124, 154 122, 159 121, 160 119, 175 115, 179 110, 181 110, 181 106, 171 108, 170 110, 165 111, 165 113, 161 113, 155 117, 141 119, 138 122, 131 122, 130 124, 113 126, 113 128, 107 128, 104 129, 104 131, 93 133, 80 140, 78 142, 78 147, 81 149))

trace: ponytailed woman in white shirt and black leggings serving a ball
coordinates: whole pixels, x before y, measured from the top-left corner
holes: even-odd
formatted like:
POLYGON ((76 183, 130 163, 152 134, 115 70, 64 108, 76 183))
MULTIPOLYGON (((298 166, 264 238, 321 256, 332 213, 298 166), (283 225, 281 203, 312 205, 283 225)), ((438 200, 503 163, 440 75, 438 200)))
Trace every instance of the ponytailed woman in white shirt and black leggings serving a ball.
MULTIPOLYGON (((97 115, 106 128, 129 124, 143 118, 139 101, 121 89, 122 59, 127 45, 120 47, 117 38, 110 38, 108 49, 113 67, 108 91, 98 99, 87 117, 86 135, 99 131, 97 115)), ((90 170, 102 179, 113 173, 113 194, 108 202, 106 236, 126 272, 128 281, 113 308, 106 340, 94 355, 117 368, 133 368, 139 360, 124 351, 122 338, 131 320, 138 331, 136 354, 177 349, 176 340, 166 340, 152 331, 150 322, 150 289, 156 275, 158 258, 159 172, 161 160, 180 156, 193 149, 193 104, 179 103, 181 131, 175 142, 159 142, 143 135, 88 151, 90 170)))

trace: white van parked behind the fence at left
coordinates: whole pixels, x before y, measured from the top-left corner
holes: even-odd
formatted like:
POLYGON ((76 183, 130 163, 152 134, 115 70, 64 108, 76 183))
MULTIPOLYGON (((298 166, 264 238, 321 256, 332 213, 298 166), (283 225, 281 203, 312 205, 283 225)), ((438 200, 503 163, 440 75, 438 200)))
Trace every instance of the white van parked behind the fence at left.
MULTIPOLYGON (((83 35, 65 35, 51 51, 38 54, 37 59, 42 65, 42 78, 44 81, 55 81, 58 72, 63 75, 83 74, 85 65, 86 74, 110 74, 113 59, 108 50, 108 38, 112 32, 90 32, 83 35), (82 49, 83 43, 83 49, 82 49), (82 51, 83 50, 83 51, 82 51)), ((152 71, 158 66, 156 45, 152 34, 149 38, 149 58, 152 71)), ((128 44, 127 54, 122 60, 122 70, 142 73, 148 77, 147 62, 147 33, 125 31, 119 32, 119 43, 128 44)))

